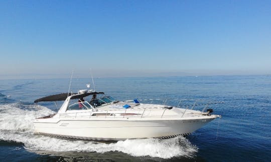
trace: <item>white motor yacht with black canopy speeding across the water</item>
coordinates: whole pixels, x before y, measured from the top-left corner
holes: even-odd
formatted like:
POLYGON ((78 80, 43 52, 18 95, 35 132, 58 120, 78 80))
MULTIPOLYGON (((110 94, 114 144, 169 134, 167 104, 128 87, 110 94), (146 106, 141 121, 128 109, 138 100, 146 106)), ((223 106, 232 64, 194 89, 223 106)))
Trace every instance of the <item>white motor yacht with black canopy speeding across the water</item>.
POLYGON ((35 103, 57 100, 64 100, 57 113, 34 120, 35 133, 110 141, 170 138, 188 135, 220 117, 211 114, 212 109, 207 109, 210 103, 206 103, 200 111, 193 109, 196 102, 191 108, 180 108, 165 104, 141 103, 138 99, 117 101, 103 92, 94 90, 50 95, 35 100, 35 103), (88 96, 92 96, 92 99, 87 101, 88 96))

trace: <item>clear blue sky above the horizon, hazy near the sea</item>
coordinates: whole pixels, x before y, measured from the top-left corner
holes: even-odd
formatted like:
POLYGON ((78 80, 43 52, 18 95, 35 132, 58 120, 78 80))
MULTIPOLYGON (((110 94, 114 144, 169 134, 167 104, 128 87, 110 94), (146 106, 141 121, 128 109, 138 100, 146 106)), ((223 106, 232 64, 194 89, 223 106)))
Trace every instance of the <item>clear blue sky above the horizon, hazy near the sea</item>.
POLYGON ((271 74, 271 0, 0 0, 0 79, 271 74))

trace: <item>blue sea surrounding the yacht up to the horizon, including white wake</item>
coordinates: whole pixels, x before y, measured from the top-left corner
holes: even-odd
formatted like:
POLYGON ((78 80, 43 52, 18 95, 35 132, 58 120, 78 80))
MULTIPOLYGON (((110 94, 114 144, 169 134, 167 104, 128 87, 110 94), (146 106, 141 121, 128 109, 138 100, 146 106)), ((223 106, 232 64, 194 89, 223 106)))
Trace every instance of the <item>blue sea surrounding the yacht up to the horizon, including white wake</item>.
MULTIPOLYGON (((0 161, 271 161, 271 75, 94 78, 97 91, 118 100, 224 101, 209 106, 222 117, 170 139, 104 143, 34 134, 35 116, 61 105, 34 100, 68 92, 69 83, 69 78, 0 80, 0 161)), ((88 83, 91 78, 72 78, 70 91, 88 83)))

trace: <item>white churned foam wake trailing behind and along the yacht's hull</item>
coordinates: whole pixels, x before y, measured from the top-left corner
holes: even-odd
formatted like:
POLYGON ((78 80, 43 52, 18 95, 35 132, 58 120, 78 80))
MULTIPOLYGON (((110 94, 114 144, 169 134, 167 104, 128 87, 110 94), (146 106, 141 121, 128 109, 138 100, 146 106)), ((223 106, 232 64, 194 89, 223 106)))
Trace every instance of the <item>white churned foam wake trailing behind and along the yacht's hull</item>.
MULTIPOLYGON (((174 156, 193 156, 197 147, 184 137, 170 139, 132 139, 116 143, 97 143, 82 140, 66 140, 33 133, 35 119, 34 105, 22 103, 0 105, 0 139, 24 143, 29 150, 99 152, 121 151, 132 156, 152 156, 171 158, 174 156), (33 110, 32 110, 33 108, 33 110)), ((42 115, 53 113, 40 106, 42 115)))

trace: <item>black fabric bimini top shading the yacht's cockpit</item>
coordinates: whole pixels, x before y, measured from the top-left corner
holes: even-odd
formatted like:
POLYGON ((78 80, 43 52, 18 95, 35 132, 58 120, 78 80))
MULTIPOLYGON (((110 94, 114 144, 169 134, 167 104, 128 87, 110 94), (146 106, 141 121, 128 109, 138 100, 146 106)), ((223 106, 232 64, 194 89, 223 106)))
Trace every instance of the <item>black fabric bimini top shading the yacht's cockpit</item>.
POLYGON ((57 101, 57 100, 66 100, 67 96, 74 95, 71 97, 71 99, 79 99, 81 97, 85 97, 91 94, 104 94, 104 92, 89 92, 89 93, 60 93, 60 94, 54 94, 49 95, 46 97, 42 97, 39 99, 36 99, 34 103, 41 102, 41 101, 57 101), (76 95, 75 95, 76 94, 76 95))

